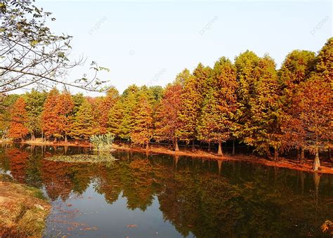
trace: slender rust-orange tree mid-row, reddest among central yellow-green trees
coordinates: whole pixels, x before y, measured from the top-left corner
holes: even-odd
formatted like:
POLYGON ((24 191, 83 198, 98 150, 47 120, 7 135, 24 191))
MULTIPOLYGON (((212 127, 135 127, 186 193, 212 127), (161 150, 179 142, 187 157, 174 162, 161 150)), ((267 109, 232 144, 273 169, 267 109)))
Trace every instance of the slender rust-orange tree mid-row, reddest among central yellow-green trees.
POLYGON ((175 146, 175 151, 179 150, 178 138, 181 120, 178 114, 181 110, 181 92, 182 86, 178 81, 166 86, 162 101, 159 104, 155 130, 156 140, 172 141, 175 146))

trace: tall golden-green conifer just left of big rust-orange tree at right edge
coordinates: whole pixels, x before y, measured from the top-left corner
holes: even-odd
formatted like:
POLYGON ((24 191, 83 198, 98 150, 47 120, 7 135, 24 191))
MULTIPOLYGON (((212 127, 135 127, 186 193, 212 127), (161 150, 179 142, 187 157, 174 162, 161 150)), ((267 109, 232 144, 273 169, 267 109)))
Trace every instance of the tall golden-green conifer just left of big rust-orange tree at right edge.
POLYGON ((258 70, 254 95, 249 100, 251 117, 244 124, 244 142, 268 157, 270 147, 273 147, 274 159, 277 160, 280 150, 280 85, 274 60, 267 55, 261 58, 258 70))

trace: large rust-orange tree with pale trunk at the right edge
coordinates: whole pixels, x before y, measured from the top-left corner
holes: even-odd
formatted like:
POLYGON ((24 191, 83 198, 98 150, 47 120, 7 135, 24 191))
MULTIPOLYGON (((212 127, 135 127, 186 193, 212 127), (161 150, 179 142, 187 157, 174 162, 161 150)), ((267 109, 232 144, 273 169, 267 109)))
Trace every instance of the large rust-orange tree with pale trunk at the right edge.
POLYGON ((313 75, 299 84, 292 98, 292 117, 287 117, 287 133, 294 133, 301 138, 306 150, 315 154, 313 170, 320 167, 319 152, 326 150, 333 138, 333 96, 332 84, 322 77, 313 75))

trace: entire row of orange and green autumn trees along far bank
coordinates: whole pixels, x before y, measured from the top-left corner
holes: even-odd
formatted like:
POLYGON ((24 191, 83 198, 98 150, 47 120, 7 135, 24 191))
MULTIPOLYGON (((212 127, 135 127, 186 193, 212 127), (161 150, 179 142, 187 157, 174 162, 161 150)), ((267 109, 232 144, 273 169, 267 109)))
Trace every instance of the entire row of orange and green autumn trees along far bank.
POLYGON ((133 144, 151 141, 218 145, 237 140, 279 159, 297 150, 315 155, 332 149, 333 38, 318 53, 295 50, 279 70, 270 56, 245 51, 234 62, 222 57, 214 67, 185 69, 173 83, 131 85, 119 95, 71 95, 56 88, 1 95, 1 130, 13 139, 39 135, 48 140, 112 133, 133 144))

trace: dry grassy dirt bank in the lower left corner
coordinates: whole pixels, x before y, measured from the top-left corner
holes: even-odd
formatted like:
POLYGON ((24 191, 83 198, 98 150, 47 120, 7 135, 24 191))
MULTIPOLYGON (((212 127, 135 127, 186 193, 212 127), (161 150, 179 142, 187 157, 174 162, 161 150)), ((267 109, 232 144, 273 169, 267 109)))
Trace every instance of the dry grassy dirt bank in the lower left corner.
POLYGON ((0 237, 41 237, 50 209, 40 190, 0 174, 0 237))

